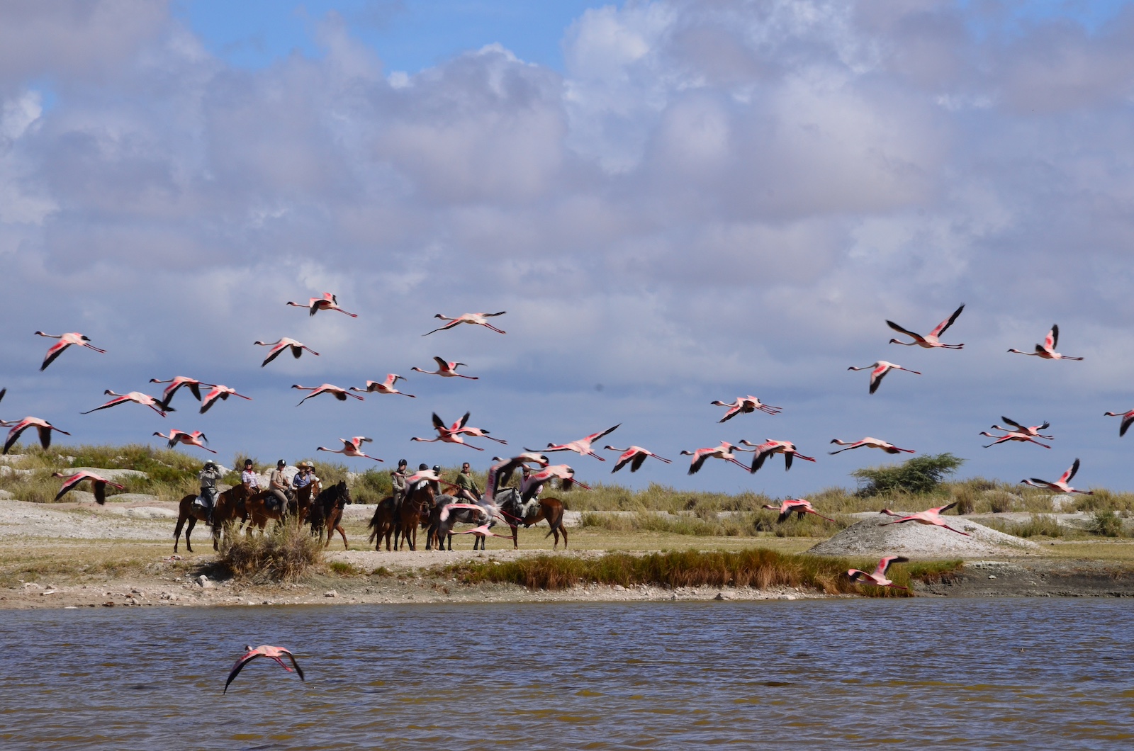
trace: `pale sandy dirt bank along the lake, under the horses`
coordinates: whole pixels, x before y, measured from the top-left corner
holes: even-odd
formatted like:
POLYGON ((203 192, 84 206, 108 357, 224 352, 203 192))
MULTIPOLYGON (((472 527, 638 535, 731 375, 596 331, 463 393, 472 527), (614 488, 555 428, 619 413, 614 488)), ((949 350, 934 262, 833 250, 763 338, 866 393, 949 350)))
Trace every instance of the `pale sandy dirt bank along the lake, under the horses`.
MULTIPOLYGON (((350 549, 336 537, 320 572, 290 584, 253 584, 220 575, 208 528, 198 525, 194 552, 184 540, 174 552, 176 506, 147 497, 92 503, 26 504, 0 500, 0 609, 81 607, 280 606, 331 604, 500 602, 577 600, 797 599, 819 597, 773 590, 658 587, 578 587, 528 591, 510 584, 469 587, 441 567, 462 560, 509 560, 551 552, 543 530, 521 531, 522 549, 493 539, 473 551, 375 551, 366 545, 365 506, 349 509, 350 549)), ((809 538, 696 538, 657 533, 570 531, 572 548, 555 555, 598 556, 607 550, 742 549, 804 551, 809 538)), ((1010 554, 1010 550, 1008 551, 1010 554)), ((855 558, 856 559, 856 558, 855 558)), ((857 559, 856 559, 857 560, 857 559)), ((1044 542, 1025 555, 971 560, 948 582, 925 585, 928 596, 1134 596, 1134 541, 1044 542)))

